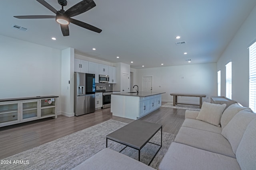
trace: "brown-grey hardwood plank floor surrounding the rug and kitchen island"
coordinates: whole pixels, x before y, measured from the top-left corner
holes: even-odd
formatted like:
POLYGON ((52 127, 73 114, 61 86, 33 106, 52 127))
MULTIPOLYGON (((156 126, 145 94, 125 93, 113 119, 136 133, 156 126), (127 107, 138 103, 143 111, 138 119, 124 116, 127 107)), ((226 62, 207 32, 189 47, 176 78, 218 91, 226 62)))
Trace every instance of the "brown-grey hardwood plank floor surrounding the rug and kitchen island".
MULTIPOLYGON (((162 102, 164 104, 165 102, 162 102)), ((185 117, 184 109, 160 107, 140 120, 159 123, 163 131, 177 134, 185 117)), ((130 123, 134 120, 112 116, 110 108, 94 113, 57 119, 46 118, 6 127, 0 127, 0 160, 44 143, 54 141, 82 129, 86 129, 109 119, 130 123)))

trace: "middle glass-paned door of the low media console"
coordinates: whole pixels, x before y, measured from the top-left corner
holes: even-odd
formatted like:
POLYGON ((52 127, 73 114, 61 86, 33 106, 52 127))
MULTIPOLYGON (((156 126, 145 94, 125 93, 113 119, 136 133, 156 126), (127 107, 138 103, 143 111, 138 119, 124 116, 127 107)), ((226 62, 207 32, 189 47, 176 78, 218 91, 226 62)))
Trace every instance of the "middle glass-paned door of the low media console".
POLYGON ((21 102, 22 121, 38 118, 38 100, 21 102))

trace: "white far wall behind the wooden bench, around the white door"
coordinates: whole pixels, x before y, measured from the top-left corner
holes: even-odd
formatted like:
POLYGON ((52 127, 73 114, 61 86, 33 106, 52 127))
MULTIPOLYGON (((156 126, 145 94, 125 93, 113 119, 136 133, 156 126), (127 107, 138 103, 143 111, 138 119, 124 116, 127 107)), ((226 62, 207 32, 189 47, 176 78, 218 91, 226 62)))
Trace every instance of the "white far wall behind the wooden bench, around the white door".
MULTIPOLYGON (((137 69, 137 83, 142 89, 142 76, 153 76, 153 91, 166 92, 162 101, 172 102, 170 93, 206 94, 203 101, 210 102, 210 96, 217 95, 216 63, 189 64, 157 68, 137 69)), ((199 98, 178 97, 179 102, 199 104, 199 98)))

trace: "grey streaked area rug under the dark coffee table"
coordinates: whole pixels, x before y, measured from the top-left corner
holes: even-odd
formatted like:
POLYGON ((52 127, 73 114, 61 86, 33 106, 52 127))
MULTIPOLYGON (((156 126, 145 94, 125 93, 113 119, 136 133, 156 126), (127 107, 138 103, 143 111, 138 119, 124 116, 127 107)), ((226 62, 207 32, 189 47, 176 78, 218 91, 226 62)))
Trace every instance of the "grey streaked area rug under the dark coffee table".
MULTIPOLYGON (((115 120, 108 120, 98 125, 94 125, 82 131, 62 137, 55 141, 26 150, 2 160, 8 161, 0 164, 0 169, 19 170, 56 170, 72 169, 84 162, 92 155, 106 147, 106 135, 123 127, 127 123, 115 120)), ((160 144, 160 131, 150 140, 152 143, 160 144)), ((158 168, 164 154, 170 144, 174 141, 175 135, 163 132, 162 148, 150 164, 153 168, 158 168)), ((124 145, 108 140, 110 149, 120 151, 124 145)), ((153 158, 159 146, 147 143, 140 152, 141 162, 148 164, 153 158)), ((138 151, 127 147, 123 154, 138 160, 138 151)), ((118 161, 118 160, 117 160, 118 161)))

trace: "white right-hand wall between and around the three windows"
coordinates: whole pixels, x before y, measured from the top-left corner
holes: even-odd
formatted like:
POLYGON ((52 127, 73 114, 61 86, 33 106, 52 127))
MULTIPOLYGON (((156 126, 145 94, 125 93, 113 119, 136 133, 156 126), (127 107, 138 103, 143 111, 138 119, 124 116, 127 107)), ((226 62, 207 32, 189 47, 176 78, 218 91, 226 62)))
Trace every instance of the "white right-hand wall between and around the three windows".
POLYGON ((226 68, 232 61, 232 99, 249 106, 249 44, 256 39, 256 7, 242 24, 217 62, 221 70, 221 96, 226 96, 226 68))

